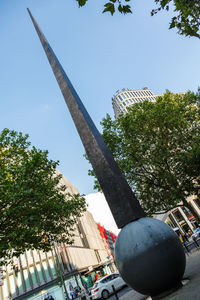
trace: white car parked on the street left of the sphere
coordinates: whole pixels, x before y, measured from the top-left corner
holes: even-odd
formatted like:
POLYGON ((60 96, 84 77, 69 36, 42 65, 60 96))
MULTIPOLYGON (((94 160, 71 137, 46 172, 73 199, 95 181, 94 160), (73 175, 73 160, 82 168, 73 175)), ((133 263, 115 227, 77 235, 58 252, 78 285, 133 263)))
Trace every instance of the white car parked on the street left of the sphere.
POLYGON ((103 278, 97 280, 94 286, 92 287, 92 299, 107 299, 109 295, 113 293, 112 285, 114 285, 115 290, 119 290, 127 284, 118 273, 113 273, 111 275, 104 276, 103 278))

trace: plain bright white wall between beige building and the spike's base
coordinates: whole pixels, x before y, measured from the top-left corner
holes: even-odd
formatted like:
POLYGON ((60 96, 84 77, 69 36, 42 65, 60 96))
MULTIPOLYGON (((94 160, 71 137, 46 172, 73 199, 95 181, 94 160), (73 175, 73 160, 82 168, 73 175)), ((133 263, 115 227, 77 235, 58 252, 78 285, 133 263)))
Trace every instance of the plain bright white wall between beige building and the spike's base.
POLYGON ((117 228, 104 194, 93 193, 86 195, 85 198, 88 204, 88 210, 92 213, 94 220, 97 223, 104 225, 105 229, 118 234, 120 229, 117 228))

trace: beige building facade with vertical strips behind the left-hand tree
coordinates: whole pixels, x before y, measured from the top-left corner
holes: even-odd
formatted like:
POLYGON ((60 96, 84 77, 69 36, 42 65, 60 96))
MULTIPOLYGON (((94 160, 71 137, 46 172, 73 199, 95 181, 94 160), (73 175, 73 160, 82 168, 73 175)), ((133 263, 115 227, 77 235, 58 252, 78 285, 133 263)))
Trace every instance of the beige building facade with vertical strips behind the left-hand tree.
MULTIPOLYGON (((63 176, 68 192, 78 190, 63 176)), ((13 265, 0 272, 0 299, 44 300, 50 293, 55 300, 64 300, 62 280, 70 295, 75 286, 92 285, 96 271, 112 272, 107 251, 97 224, 86 211, 74 227, 73 245, 59 244, 44 253, 29 250, 13 260, 13 265), (62 275, 62 276, 61 276, 62 275)))

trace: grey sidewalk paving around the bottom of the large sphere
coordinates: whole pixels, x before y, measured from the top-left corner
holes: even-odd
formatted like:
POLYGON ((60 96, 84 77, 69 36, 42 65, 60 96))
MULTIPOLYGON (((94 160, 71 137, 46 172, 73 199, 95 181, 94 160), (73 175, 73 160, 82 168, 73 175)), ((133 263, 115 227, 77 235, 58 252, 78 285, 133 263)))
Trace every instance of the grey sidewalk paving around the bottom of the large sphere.
MULTIPOLYGON (((176 292, 162 300, 199 300, 200 299, 200 250, 187 255, 184 279, 189 282, 176 292)), ((120 300, 151 300, 151 297, 141 295, 133 290, 120 297, 120 300)))

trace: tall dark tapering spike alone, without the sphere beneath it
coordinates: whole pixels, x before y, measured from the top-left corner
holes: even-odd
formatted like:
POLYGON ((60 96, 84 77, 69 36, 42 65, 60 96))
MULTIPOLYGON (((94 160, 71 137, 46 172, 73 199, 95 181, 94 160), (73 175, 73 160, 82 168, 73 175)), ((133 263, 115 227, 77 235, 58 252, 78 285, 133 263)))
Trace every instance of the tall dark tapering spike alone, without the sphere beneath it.
POLYGON ((28 10, 85 151, 119 228, 144 217, 144 211, 104 143, 48 41, 28 10))

